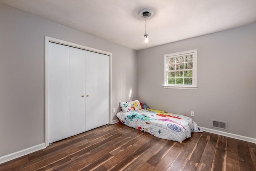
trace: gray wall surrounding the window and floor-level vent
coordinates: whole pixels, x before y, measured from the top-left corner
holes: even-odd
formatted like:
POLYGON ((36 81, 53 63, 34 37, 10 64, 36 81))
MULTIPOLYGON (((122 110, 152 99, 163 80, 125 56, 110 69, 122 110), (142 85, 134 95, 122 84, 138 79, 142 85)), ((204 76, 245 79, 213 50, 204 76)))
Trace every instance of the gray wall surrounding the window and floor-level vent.
POLYGON ((256 24, 137 52, 137 97, 153 109, 190 115, 202 127, 256 138, 256 24), (164 89, 164 54, 197 49, 197 90, 164 89))

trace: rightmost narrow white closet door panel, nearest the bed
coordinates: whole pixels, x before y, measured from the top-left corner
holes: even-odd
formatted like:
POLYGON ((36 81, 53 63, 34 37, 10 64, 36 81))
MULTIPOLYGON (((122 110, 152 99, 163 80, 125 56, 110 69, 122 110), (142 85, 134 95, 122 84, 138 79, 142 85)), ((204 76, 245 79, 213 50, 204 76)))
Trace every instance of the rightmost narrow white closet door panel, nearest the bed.
POLYGON ((109 123, 109 56, 98 56, 98 126, 109 123))

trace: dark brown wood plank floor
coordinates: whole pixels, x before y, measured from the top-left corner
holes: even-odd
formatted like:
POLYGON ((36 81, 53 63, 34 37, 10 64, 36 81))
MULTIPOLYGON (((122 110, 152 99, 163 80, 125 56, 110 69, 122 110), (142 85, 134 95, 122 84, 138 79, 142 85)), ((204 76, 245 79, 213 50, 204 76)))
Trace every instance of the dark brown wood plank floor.
POLYGON ((0 170, 255 171, 256 144, 207 132, 179 143, 117 123, 3 163, 0 170))

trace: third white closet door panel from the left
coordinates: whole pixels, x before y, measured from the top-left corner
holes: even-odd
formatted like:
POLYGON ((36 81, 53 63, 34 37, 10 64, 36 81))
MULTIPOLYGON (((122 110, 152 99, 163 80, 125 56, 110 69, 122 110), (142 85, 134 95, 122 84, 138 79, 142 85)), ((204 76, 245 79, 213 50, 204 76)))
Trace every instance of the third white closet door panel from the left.
POLYGON ((86 51, 86 131, 98 125, 98 58, 97 53, 86 51))

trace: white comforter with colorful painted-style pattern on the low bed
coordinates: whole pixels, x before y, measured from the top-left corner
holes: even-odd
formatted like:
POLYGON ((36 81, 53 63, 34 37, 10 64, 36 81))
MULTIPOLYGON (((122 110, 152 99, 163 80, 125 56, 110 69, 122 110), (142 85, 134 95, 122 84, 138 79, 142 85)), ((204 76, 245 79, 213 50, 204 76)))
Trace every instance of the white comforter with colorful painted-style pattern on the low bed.
POLYGON ((156 137, 182 142, 192 132, 202 132, 190 117, 153 109, 120 111, 116 114, 125 125, 156 137))

